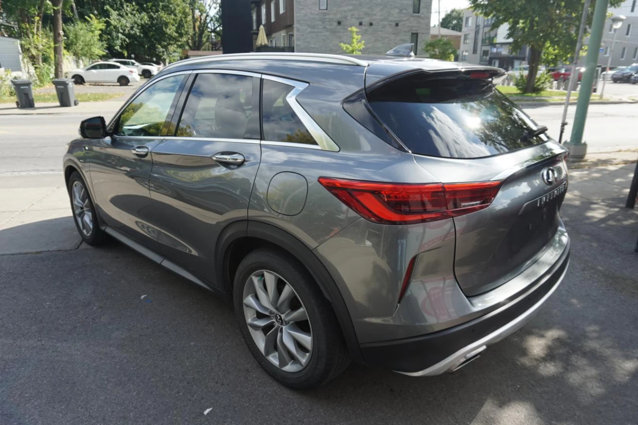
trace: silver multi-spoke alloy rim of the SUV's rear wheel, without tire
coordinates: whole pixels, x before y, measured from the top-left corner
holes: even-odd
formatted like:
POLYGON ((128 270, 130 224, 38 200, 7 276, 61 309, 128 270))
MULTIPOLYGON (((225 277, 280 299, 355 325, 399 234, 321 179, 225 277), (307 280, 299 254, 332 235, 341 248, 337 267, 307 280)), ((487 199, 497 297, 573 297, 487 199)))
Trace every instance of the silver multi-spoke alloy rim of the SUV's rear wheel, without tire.
POLYGON ((313 350, 306 308, 279 274, 260 270, 248 278, 243 294, 244 318, 256 346, 286 372, 304 369, 313 350))

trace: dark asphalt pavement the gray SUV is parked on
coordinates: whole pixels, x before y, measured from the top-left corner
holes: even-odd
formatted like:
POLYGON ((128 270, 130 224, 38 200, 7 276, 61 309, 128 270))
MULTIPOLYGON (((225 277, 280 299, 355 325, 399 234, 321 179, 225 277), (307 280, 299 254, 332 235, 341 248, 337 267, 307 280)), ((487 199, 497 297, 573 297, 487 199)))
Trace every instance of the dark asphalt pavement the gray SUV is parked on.
MULTIPOLYGON (((319 389, 290 391, 251 357, 228 302, 117 242, 0 255, 0 419, 47 422, 55 410, 75 423, 638 423, 630 174, 572 173, 565 280, 523 329, 438 377, 352 364, 319 389)), ((63 220, 13 231, 33 237, 63 220)))

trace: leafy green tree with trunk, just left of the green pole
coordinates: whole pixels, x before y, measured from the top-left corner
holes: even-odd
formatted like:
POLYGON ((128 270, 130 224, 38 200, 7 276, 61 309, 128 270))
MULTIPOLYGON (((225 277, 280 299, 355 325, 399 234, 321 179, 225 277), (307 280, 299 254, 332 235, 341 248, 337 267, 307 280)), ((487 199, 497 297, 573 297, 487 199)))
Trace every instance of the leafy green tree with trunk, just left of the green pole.
MULTIPOLYGON (((588 11, 587 26, 591 26, 595 1, 588 11)), ((623 0, 610 0, 611 7, 619 6, 623 0)), ((512 48, 524 45, 530 48, 528 74, 525 93, 531 93, 542 54, 546 48, 552 54, 570 57, 576 46, 576 38, 584 1, 583 0, 470 0, 471 8, 480 15, 493 17, 493 27, 508 24, 508 38, 512 38, 512 48)))

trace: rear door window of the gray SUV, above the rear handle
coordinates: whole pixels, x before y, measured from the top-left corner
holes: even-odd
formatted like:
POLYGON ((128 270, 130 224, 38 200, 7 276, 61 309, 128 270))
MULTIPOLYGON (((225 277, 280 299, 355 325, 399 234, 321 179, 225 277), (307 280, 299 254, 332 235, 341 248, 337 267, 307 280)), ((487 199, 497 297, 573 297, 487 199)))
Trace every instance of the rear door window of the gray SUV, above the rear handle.
POLYGON ((253 111, 253 77, 201 73, 186 99, 177 136, 258 137, 258 117, 259 111, 253 111))

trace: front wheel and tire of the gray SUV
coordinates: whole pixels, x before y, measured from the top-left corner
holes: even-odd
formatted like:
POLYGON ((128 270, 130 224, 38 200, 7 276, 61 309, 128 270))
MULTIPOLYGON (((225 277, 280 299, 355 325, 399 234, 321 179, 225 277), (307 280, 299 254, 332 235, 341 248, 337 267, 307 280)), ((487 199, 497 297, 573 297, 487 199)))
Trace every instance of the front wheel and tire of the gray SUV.
POLYGON ((93 200, 91 199, 91 193, 89 193, 84 179, 82 179, 82 176, 77 171, 74 171, 71 177, 69 177, 67 190, 71 202, 71 211, 73 211, 75 228, 77 228, 82 242, 91 246, 103 244, 107 241, 107 234, 100 228, 100 225, 98 225, 98 215, 95 211, 93 200), (82 193, 82 191, 84 192, 82 193), (76 202, 77 199, 79 199, 79 202, 76 202), (88 216, 88 218, 85 218, 86 216, 88 216))

